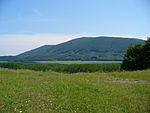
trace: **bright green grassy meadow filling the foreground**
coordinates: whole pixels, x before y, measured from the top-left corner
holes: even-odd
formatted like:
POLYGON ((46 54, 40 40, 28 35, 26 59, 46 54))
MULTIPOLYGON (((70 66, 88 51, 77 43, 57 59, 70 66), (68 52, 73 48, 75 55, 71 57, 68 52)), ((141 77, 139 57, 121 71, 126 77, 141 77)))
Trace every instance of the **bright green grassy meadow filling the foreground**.
POLYGON ((0 112, 149 113, 149 73, 0 69, 0 112))

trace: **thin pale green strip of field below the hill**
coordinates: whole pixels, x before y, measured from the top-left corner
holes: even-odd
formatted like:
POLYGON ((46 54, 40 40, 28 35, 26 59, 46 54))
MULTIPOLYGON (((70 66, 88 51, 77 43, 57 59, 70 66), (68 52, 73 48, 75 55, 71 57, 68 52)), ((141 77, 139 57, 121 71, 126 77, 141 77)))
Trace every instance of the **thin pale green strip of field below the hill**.
POLYGON ((122 61, 35 61, 38 63, 58 63, 58 64, 101 64, 101 63, 121 63, 122 61))

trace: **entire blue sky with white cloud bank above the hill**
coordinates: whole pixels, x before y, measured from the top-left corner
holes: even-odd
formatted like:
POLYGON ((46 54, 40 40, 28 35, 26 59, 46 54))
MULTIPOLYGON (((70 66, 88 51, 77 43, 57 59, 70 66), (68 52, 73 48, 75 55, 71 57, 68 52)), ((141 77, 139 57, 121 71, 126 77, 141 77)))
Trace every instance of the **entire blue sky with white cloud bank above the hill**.
POLYGON ((150 0, 0 0, 0 56, 78 37, 150 36, 150 0))

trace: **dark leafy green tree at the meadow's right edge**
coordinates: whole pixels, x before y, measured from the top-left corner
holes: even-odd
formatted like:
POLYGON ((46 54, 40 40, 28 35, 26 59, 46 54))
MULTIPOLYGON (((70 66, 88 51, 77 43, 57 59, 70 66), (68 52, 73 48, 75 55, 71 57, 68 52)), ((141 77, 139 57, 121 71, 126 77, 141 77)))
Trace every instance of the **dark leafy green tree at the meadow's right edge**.
POLYGON ((140 70, 150 68, 150 39, 145 44, 128 47, 121 65, 123 70, 140 70))

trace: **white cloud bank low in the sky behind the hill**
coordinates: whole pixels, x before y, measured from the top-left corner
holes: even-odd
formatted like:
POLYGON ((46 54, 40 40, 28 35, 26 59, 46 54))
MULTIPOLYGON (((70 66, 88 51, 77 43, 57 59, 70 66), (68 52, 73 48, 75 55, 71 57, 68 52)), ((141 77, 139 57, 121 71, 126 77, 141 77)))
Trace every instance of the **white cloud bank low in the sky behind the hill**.
MULTIPOLYGON (((0 56, 3 55, 17 55, 22 52, 43 46, 43 45, 55 45, 71 39, 79 37, 100 36, 96 34, 76 34, 76 35, 56 35, 56 34, 10 34, 0 35, 0 56)), ((112 35, 102 35, 112 36, 112 35)), ((117 36, 119 37, 119 36, 117 36)), ((146 37, 137 36, 121 36, 121 37, 135 37, 140 39, 146 39, 146 37)))

